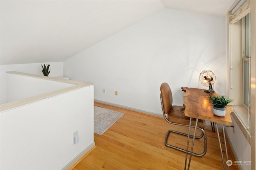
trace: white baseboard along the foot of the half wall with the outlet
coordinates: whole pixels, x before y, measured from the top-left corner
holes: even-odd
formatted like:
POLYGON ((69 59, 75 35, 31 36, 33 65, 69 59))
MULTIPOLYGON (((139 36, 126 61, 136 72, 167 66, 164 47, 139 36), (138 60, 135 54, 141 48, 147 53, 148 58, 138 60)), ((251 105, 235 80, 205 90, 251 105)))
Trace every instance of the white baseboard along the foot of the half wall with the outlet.
POLYGON ((71 162, 69 162, 62 170, 72 170, 79 162, 81 162, 92 150, 96 148, 95 142, 84 149, 80 154, 78 154, 71 162))

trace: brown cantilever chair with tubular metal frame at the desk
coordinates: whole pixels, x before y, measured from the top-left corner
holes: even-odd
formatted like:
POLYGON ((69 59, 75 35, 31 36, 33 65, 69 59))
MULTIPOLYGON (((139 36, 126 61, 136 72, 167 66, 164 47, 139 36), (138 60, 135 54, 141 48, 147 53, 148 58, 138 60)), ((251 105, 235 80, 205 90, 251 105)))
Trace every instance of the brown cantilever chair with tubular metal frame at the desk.
MULTIPOLYGON (((189 127, 190 117, 187 117, 184 115, 185 107, 172 106, 172 90, 170 89, 170 86, 167 83, 162 83, 161 87, 160 87, 160 91, 161 91, 160 100, 161 100, 161 104, 162 104, 162 111, 163 111, 164 119, 168 123, 171 123, 174 125, 181 125, 181 126, 189 127)), ((196 125, 196 119, 192 118, 191 127, 195 127, 195 125, 196 125)), ((201 135, 196 136, 195 139, 200 139, 200 138, 204 137, 204 151, 200 154, 192 152, 192 155, 204 156, 206 154, 206 133, 204 131, 205 121, 198 119, 198 124, 197 124, 196 128, 201 131, 201 135)), ((174 131, 174 130, 169 130, 165 137, 165 145, 167 147, 170 147, 170 148, 173 148, 176 150, 180 150, 182 152, 186 152, 185 149, 181 149, 179 147, 175 147, 175 146, 169 145, 167 143, 170 132, 178 133, 180 135, 185 135, 185 136, 188 136, 188 134, 174 131)), ((193 137, 193 136, 190 135, 190 137, 193 137)), ((188 154, 190 154, 190 151, 188 151, 188 154)))

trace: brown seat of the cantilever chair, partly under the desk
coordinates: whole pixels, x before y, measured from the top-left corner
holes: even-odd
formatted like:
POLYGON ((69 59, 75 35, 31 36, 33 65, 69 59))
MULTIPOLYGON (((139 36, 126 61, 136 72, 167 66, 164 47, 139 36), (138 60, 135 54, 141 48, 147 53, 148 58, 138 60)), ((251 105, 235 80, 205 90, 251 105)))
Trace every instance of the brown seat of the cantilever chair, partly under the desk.
MULTIPOLYGON (((167 114, 168 120, 171 120, 174 123, 189 125, 190 117, 185 116, 184 110, 185 110, 185 107, 183 106, 172 106, 172 108, 167 114)), ((192 118, 191 126, 195 126, 195 125, 196 125, 196 119, 192 118)), ((204 129, 205 121, 198 119, 197 127, 204 129)))

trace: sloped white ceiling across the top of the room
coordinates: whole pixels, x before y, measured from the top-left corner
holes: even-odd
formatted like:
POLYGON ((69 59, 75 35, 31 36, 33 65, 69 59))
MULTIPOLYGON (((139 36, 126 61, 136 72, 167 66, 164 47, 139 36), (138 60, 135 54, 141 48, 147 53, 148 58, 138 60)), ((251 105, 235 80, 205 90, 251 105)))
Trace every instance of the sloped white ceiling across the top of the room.
POLYGON ((238 0, 1 0, 0 64, 65 61, 164 8, 225 16, 238 0))

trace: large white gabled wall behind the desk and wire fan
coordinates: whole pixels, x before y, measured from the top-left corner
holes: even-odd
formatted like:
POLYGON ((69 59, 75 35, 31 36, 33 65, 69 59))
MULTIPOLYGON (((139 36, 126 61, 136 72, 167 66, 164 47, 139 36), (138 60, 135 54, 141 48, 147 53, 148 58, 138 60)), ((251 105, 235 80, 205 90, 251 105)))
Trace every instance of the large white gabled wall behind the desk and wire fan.
POLYGON ((94 83, 96 100, 157 114, 162 82, 171 86, 174 105, 182 105, 181 86, 206 88, 198 80, 204 69, 215 73, 214 89, 226 95, 225 21, 161 10, 66 60, 64 76, 94 83))

